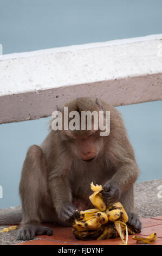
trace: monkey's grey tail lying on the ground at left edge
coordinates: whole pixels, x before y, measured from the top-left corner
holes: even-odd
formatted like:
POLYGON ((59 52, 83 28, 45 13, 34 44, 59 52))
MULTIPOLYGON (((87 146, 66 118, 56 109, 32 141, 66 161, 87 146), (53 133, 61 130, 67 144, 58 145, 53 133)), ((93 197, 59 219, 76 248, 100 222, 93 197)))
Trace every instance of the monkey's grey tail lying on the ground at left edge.
POLYGON ((21 206, 0 209, 0 225, 20 224, 22 221, 21 206))

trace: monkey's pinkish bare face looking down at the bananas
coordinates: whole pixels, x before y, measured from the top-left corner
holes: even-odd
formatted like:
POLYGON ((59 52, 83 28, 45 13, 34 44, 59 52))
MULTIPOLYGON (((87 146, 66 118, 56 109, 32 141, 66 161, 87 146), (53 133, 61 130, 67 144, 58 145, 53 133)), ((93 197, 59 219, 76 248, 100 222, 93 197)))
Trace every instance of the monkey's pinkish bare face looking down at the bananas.
POLYGON ((100 137, 99 131, 85 131, 84 133, 70 131, 68 136, 70 149, 83 162, 95 161, 103 148, 103 138, 100 137))

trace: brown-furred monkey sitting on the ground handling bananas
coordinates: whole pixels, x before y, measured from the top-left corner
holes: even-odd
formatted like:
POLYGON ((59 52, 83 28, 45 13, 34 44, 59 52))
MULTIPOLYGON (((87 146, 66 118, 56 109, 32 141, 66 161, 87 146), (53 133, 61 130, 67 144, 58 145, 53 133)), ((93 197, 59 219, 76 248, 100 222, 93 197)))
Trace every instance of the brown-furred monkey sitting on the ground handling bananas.
MULTIPOLYGON (((43 222, 72 225, 80 210, 93 208, 90 182, 102 185, 107 206, 119 201, 128 214, 128 224, 140 232, 141 222, 133 209, 133 184, 139 168, 120 112, 93 97, 79 97, 64 106, 79 115, 103 111, 105 116, 109 111, 110 133, 100 136, 100 129, 93 129, 93 119, 91 130, 51 130, 40 146, 28 149, 19 189, 22 221, 18 239, 52 235, 53 230, 41 225, 43 222)), ((63 107, 57 106, 57 110, 64 113, 63 107)))

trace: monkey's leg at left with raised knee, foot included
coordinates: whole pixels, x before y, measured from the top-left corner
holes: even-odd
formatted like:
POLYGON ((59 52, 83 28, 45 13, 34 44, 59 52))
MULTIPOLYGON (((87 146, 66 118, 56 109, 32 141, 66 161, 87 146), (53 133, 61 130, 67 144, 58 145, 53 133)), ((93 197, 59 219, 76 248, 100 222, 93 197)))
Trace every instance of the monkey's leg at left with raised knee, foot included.
POLYGON ((52 235, 48 227, 42 227, 40 208, 42 201, 48 198, 46 159, 40 147, 33 145, 25 158, 21 182, 22 227, 18 230, 18 239, 31 240, 35 235, 52 235))

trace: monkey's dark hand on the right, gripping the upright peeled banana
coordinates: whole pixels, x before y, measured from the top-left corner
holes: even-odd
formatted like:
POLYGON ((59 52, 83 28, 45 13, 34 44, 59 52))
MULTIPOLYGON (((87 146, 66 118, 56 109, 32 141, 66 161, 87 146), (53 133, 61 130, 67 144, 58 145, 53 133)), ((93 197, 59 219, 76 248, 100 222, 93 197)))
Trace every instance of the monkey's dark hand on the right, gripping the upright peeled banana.
POLYGON ((106 206, 110 206, 116 202, 118 202, 120 198, 119 188, 114 186, 113 184, 107 182, 103 186, 102 198, 105 202, 106 206))

